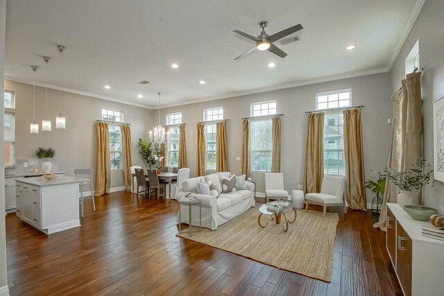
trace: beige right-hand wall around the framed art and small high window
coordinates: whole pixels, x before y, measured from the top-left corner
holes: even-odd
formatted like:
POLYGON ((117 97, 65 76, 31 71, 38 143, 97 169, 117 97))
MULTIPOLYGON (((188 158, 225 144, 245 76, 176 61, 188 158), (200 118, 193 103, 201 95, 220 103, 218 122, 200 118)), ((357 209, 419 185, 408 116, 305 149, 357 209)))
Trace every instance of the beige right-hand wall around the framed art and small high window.
MULTIPOLYGON (((444 1, 428 0, 407 39, 391 70, 391 91, 395 92, 405 78, 404 62, 415 44, 419 40, 420 67, 424 68, 421 77, 422 84, 422 121, 424 156, 433 162, 433 105, 432 103, 444 96, 444 1)), ((444 214, 444 184, 434 182, 434 186, 425 186, 424 203, 429 207, 436 207, 444 214)))

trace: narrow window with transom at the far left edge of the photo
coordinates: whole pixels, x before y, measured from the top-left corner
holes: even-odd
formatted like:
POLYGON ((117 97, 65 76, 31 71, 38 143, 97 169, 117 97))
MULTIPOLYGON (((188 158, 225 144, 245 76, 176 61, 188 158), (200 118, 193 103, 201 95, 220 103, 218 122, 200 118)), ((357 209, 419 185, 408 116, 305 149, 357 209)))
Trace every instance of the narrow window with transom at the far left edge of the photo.
POLYGON ((15 165, 15 93, 6 91, 4 93, 4 139, 3 139, 3 162, 4 166, 15 165))

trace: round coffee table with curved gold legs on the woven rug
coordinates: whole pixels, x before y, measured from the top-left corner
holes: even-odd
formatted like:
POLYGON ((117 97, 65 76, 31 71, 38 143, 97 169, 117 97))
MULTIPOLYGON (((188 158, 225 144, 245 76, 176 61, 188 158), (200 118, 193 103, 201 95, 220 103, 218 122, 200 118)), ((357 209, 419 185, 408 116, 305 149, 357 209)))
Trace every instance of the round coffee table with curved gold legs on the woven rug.
POLYGON ((268 225, 268 222, 266 223, 266 225, 261 224, 261 217, 263 214, 271 216, 271 220, 274 220, 277 225, 280 225, 281 218, 282 216, 284 216, 285 226, 282 226, 284 232, 287 232, 289 230, 289 223, 293 223, 294 221, 296 221, 296 217, 298 216, 298 214, 296 213, 296 209, 294 208, 294 204, 287 200, 267 202, 266 204, 262 204, 262 206, 259 207, 259 212, 260 213, 259 217, 257 217, 257 224, 259 224, 259 226, 262 228, 265 228, 268 225), (271 209, 271 207, 275 207, 275 209, 271 209), (291 210, 293 210, 294 212, 293 220, 289 220, 289 218, 287 218, 287 215, 285 215, 285 213, 288 213, 291 210))

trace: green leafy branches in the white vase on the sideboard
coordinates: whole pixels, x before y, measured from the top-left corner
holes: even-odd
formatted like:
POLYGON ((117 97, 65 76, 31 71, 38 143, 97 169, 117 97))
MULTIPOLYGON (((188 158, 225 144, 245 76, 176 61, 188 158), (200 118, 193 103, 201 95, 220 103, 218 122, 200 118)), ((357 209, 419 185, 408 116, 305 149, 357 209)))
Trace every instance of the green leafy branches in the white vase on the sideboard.
POLYGON ((429 184, 432 180, 433 169, 429 162, 420 158, 416 164, 411 164, 409 171, 398 172, 391 168, 384 168, 384 173, 388 180, 391 180, 400 190, 410 191, 429 184))

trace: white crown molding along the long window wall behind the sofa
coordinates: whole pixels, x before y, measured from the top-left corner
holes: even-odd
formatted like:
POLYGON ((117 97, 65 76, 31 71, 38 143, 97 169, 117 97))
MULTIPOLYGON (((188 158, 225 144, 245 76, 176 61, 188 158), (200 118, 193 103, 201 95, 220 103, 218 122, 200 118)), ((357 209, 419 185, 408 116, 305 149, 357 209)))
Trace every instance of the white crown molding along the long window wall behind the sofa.
MULTIPOLYGON (((223 96, 214 96, 214 97, 210 97, 210 98, 199 98, 199 99, 190 100, 190 101, 182 101, 181 103, 177 103, 177 104, 174 104, 174 103, 173 104, 165 104, 165 105, 161 105, 160 109, 195 104, 195 103, 203 103, 203 102, 208 102, 208 101, 216 101, 216 100, 221 100, 223 98, 233 98, 236 96, 246 96, 248 94, 260 94, 262 92, 271 92, 271 91, 280 90, 280 89, 289 89, 292 87, 302 87, 304 85, 314 85, 316 83, 321 83, 321 82, 329 82, 329 81, 354 78, 354 77, 359 77, 359 76, 386 73, 388 71, 390 71, 390 69, 388 69, 387 67, 384 67, 384 68, 371 69, 371 70, 367 70, 367 71, 343 73, 343 74, 339 74, 339 75, 332 75, 332 76, 325 76, 325 77, 316 78, 316 79, 304 80, 304 81, 295 82, 295 83, 291 83, 291 84, 287 84, 287 85, 264 87, 261 89, 253 89, 253 90, 246 91, 246 92, 235 92, 235 93, 226 94, 223 96)), ((157 109, 157 107, 155 109, 157 109)))

